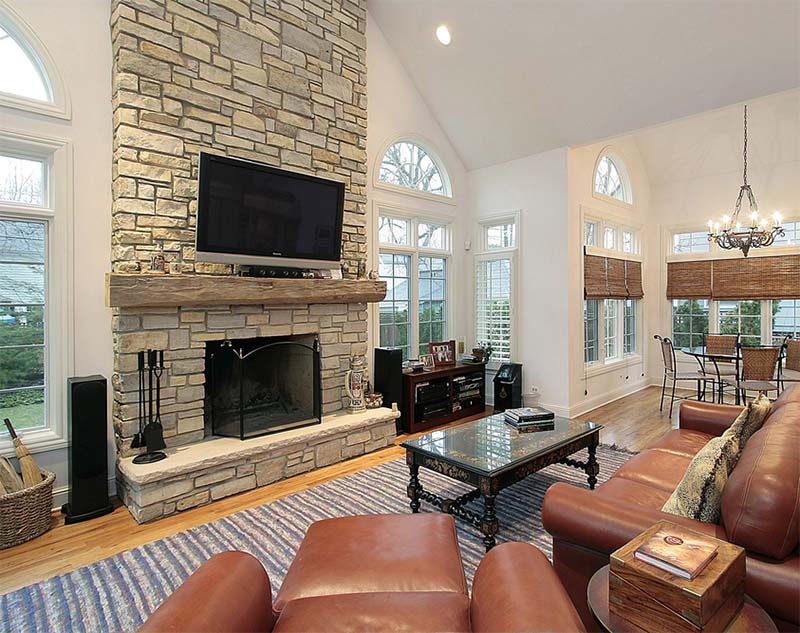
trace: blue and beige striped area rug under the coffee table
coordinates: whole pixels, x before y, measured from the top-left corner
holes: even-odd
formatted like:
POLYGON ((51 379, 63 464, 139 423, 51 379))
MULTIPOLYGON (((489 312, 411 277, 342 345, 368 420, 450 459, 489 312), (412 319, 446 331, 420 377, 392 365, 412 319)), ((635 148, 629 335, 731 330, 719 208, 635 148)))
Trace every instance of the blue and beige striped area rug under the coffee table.
MULTIPOLYGON (((599 480, 605 481, 631 453, 601 446, 599 480)), ((577 459, 585 459, 578 453, 577 459)), ((273 595, 280 587, 308 526, 319 519, 356 514, 408 513, 408 469, 395 460, 342 477, 207 525, 123 552, 76 571, 0 596, 3 631, 134 631, 206 559, 225 550, 258 557, 273 595)), ((420 469, 426 489, 453 497, 467 488, 420 469)), ((497 498, 498 542, 526 541, 551 553, 542 528, 542 498, 557 481, 586 487, 582 471, 550 466, 502 491, 497 498)), ((479 509, 479 502, 474 502, 479 509)), ((423 503, 423 511, 431 507, 423 503)), ((478 530, 457 520, 467 578, 484 554, 478 530)))

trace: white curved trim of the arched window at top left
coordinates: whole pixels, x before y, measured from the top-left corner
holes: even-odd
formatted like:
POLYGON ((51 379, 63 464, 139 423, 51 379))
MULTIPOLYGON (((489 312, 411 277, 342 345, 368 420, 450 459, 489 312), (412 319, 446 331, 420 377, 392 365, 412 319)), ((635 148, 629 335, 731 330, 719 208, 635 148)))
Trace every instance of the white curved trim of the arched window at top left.
POLYGON ((20 95, 0 92, 0 107, 14 108, 24 112, 35 112, 58 119, 71 119, 69 94, 52 56, 42 41, 25 21, 7 4, 0 2, 0 23, 16 42, 29 54, 47 85, 51 100, 40 101, 20 95))

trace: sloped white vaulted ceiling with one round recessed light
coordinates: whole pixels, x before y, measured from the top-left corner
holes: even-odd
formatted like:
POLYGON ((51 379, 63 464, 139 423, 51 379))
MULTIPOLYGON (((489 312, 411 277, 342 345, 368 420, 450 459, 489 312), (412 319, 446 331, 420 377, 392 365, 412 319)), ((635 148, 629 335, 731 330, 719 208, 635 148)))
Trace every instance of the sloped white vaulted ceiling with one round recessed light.
POLYGON ((800 0, 369 0, 467 169, 800 86, 800 0), (439 24, 450 46, 434 36, 439 24))

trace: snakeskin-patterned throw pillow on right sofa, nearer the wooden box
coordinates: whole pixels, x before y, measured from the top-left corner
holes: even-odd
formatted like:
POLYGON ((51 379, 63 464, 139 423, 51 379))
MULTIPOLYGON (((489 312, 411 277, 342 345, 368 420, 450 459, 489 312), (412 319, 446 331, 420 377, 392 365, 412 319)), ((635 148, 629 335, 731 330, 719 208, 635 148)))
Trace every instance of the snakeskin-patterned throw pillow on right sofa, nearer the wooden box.
POLYGON ((722 490, 738 454, 737 434, 725 433, 710 440, 694 456, 661 509, 704 523, 719 523, 722 490))

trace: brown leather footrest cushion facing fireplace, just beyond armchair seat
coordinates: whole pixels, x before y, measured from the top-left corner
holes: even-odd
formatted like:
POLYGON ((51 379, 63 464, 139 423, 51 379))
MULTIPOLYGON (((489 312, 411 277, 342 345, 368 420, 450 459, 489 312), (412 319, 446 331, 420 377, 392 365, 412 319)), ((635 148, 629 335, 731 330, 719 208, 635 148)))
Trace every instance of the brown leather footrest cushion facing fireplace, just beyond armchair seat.
POLYGON ((275 598, 389 591, 467 595, 453 517, 386 514, 313 523, 275 598))

